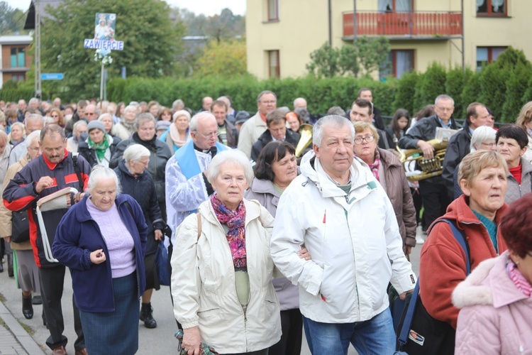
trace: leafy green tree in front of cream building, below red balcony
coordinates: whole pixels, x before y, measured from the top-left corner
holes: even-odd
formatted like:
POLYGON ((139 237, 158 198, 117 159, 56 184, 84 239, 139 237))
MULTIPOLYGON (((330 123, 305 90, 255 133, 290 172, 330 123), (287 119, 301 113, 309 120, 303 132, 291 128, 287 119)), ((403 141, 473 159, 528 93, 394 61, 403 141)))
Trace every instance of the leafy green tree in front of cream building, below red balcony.
POLYGON ((358 77, 361 73, 369 76, 371 72, 379 69, 389 51, 389 40, 384 36, 372 40, 362 36, 357 40, 356 47, 343 45, 333 48, 328 43, 323 43, 310 54, 311 61, 306 65, 306 70, 316 77, 358 77))

